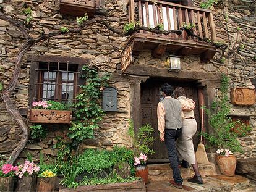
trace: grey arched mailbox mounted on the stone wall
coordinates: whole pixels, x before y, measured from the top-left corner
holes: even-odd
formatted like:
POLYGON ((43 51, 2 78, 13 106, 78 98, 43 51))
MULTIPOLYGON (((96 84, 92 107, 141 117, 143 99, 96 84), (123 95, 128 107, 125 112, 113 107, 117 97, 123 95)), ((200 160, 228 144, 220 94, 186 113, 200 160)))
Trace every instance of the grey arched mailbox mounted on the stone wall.
POLYGON ((107 87, 103 90, 102 108, 104 111, 117 111, 117 90, 107 87))

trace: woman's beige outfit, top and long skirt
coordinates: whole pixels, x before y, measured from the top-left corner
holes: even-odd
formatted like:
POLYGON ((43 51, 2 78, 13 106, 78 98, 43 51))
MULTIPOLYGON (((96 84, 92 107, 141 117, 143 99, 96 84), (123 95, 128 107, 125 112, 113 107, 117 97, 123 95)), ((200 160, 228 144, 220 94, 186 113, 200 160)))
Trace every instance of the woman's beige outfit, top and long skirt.
MULTIPOLYGON (((185 96, 180 96, 177 98, 182 106, 194 105, 192 109, 195 108, 195 102, 192 99, 188 99, 185 96)), ((193 145, 193 136, 197 132, 197 122, 195 119, 187 119, 194 117, 194 110, 182 111, 184 113, 182 135, 176 141, 176 149, 179 159, 184 159, 189 162, 189 164, 195 164, 195 151, 193 145)))

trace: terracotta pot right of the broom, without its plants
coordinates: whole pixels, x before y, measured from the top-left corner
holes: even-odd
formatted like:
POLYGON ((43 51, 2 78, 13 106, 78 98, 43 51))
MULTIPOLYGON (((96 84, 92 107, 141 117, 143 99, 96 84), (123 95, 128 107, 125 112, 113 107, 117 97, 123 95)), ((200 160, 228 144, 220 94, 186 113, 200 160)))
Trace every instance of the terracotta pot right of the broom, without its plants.
POLYGON ((236 157, 234 155, 216 156, 216 162, 223 175, 234 176, 236 170, 236 157))

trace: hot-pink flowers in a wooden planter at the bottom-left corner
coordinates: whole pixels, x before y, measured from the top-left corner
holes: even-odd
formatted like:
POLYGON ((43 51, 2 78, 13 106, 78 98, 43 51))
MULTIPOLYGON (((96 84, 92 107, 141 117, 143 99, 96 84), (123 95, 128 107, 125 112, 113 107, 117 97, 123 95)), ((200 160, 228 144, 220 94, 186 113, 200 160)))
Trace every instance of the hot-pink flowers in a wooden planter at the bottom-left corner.
MULTIPOLYGON (((1 158, 2 157, 6 156, 1 156, 1 158)), ((4 161, 1 160, 0 191, 13 191, 16 170, 18 170, 17 166, 13 166, 11 164, 4 164, 4 161)))

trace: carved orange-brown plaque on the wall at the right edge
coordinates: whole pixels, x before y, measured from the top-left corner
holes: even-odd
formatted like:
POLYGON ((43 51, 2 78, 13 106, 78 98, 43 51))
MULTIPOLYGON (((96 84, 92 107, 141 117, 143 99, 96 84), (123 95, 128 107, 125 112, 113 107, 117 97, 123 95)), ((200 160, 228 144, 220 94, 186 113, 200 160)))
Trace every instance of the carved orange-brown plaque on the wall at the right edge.
POLYGON ((251 88, 234 88, 231 90, 231 103, 241 106, 256 104, 255 89, 251 88))

